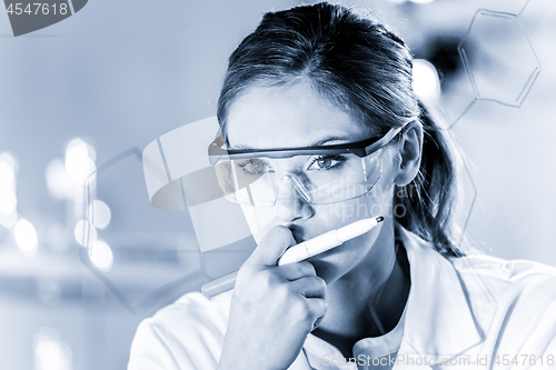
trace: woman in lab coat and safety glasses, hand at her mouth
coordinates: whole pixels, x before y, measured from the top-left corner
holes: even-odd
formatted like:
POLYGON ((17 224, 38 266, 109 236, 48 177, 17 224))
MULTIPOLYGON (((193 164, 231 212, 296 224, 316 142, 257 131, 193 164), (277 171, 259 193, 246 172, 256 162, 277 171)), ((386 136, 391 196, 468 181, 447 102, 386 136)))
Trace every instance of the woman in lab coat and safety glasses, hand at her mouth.
POLYGON ((267 13, 229 59, 218 119, 252 183, 234 200, 275 208, 280 226, 232 293, 189 293, 145 320, 129 369, 554 366, 554 270, 454 244, 457 152, 413 92, 400 38, 328 3, 267 13), (378 216, 277 266, 288 247, 378 216))

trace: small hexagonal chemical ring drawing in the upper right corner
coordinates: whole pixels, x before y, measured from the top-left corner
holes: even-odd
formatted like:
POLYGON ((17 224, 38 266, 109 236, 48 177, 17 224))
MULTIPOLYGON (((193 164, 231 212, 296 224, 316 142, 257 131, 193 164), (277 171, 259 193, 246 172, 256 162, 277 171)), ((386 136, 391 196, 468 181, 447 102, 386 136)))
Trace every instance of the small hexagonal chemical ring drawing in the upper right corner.
POLYGON ((516 14, 478 10, 458 51, 477 99, 520 107, 540 72, 516 14))

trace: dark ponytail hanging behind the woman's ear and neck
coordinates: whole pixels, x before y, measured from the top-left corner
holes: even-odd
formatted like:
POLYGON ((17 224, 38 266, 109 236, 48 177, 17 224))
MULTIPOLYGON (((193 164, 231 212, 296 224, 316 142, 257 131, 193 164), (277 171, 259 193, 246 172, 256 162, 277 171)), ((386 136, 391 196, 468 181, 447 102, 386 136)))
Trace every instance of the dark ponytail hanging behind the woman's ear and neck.
POLYGON ((396 187, 397 221, 433 243, 439 252, 463 256, 456 246, 456 206, 459 196, 457 173, 461 159, 443 121, 419 102, 423 123, 423 152, 419 172, 404 187, 396 187), (401 214, 403 213, 403 214, 401 214))

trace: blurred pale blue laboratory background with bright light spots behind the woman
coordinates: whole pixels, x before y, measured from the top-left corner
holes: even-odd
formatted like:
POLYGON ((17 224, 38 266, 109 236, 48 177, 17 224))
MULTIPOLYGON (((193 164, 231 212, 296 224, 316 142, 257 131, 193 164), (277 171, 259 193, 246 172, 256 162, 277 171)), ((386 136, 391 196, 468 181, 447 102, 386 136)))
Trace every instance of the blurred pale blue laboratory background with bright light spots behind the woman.
MULTIPOLYGON (((228 272, 187 211, 150 206, 141 152, 214 116, 229 53, 299 3, 91 0, 18 38, 0 11, 0 369, 125 369, 141 319, 228 272)), ((469 158, 466 234, 556 266, 556 2, 341 3, 418 59, 416 91, 469 158)))

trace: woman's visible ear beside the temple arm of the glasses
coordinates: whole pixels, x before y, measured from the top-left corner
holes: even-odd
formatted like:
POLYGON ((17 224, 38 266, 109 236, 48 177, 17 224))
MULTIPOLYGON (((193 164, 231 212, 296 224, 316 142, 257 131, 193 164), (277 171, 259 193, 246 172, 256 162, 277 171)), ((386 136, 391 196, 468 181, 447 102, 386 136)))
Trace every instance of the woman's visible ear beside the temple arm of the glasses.
POLYGON ((408 123, 399 142, 399 158, 394 183, 403 187, 411 182, 420 167, 423 150, 423 126, 418 121, 408 123))

